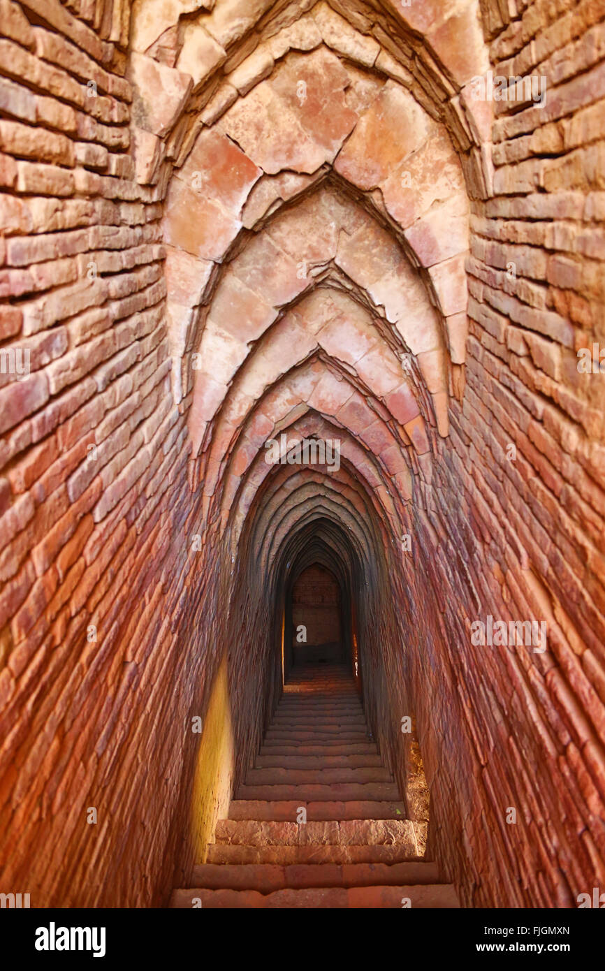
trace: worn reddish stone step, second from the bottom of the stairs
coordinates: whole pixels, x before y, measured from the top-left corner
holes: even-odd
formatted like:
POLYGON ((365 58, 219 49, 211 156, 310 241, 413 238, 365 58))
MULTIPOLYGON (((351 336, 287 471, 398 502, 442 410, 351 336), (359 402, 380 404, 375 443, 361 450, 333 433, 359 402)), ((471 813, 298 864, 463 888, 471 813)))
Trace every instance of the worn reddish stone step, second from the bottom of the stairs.
POLYGON ((209 890, 275 890, 307 887, 399 887, 438 883, 436 867, 426 863, 201 863, 193 885, 209 890))

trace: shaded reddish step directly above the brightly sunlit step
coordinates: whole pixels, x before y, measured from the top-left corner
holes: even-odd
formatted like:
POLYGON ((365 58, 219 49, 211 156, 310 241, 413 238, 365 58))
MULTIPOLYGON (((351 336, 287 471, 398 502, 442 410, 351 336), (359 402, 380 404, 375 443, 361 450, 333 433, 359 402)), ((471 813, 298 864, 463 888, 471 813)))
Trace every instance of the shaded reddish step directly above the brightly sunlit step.
POLYGON ((301 806, 309 820, 403 820, 403 802, 348 800, 305 802, 297 799, 232 799, 230 820, 286 820, 295 822, 301 806))

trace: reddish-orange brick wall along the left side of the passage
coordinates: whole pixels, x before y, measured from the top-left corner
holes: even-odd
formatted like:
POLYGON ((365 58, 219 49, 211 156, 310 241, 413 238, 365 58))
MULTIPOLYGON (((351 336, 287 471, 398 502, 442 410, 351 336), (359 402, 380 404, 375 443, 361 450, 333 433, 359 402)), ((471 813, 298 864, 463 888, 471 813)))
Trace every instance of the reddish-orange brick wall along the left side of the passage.
POLYGON ((81 7, 2 4, 0 326, 31 367, 0 389, 2 885, 32 906, 150 905, 201 704, 178 637, 199 621, 192 503, 127 23, 81 7))

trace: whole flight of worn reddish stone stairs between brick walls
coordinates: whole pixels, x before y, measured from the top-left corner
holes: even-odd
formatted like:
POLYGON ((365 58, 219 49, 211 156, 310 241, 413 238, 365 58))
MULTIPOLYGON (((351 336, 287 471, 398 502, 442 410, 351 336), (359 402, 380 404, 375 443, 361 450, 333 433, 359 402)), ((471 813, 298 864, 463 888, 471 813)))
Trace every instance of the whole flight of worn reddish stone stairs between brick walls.
POLYGON ((454 887, 419 857, 422 826, 405 818, 349 672, 306 664, 292 672, 194 887, 175 890, 171 906, 457 907, 454 887), (301 808, 306 822, 296 821, 301 808))

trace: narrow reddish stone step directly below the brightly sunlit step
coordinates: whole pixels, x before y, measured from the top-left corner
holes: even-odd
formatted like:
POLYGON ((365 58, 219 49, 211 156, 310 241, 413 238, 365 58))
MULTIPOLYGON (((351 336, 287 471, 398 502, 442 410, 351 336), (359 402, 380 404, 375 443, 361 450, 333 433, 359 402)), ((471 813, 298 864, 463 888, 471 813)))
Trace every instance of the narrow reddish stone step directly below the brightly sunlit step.
POLYGON ((409 863, 426 868, 422 877, 407 878, 410 883, 436 883, 436 863, 425 862, 416 856, 415 847, 409 843, 397 846, 240 846, 232 843, 213 843, 208 848, 207 863, 277 863, 288 866, 293 863, 409 863))

